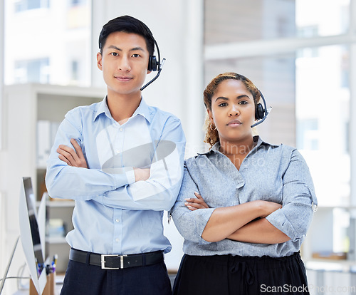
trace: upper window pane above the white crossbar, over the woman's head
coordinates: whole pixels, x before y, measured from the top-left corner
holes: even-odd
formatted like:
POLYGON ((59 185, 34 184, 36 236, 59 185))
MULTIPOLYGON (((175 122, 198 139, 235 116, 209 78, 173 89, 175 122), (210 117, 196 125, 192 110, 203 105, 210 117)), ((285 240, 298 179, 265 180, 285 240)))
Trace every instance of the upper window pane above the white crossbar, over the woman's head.
POLYGON ((205 0, 206 44, 346 33, 350 0, 205 0))

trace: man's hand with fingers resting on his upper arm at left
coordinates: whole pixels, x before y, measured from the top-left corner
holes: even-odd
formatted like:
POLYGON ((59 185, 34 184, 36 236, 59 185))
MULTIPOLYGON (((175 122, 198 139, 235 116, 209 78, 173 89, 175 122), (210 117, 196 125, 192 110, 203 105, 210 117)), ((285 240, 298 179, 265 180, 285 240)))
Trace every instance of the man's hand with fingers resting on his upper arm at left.
POLYGON ((57 149, 59 159, 72 167, 88 168, 83 151, 77 141, 72 138, 70 143, 73 145, 75 150, 73 150, 73 148, 69 148, 67 145, 59 145, 57 149))

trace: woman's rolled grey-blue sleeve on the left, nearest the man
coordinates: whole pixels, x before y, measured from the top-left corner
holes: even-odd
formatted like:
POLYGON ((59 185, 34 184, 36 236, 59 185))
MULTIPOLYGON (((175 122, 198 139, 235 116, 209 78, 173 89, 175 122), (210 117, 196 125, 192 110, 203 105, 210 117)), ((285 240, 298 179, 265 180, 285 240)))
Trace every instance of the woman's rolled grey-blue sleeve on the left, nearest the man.
MULTIPOLYGON (((185 240, 198 244, 211 244, 210 242, 206 242, 201 237, 201 234, 203 233, 211 214, 214 212, 214 208, 191 211, 184 205, 184 202, 186 202, 185 199, 194 196, 194 192, 199 192, 197 183, 194 182, 191 173, 194 173, 194 171, 189 171, 187 164, 184 165, 182 187, 177 202, 172 208, 171 214, 175 226, 185 240)), ((204 198, 204 196, 202 197, 204 198)))

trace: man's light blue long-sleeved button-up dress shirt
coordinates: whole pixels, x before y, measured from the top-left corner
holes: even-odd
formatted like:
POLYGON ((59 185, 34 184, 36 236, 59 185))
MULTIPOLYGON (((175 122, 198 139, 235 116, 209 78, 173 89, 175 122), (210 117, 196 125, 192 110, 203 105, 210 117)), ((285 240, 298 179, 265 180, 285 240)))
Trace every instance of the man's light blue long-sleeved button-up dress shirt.
POLYGON ((142 99, 120 125, 106 98, 70 110, 58 128, 47 162, 46 186, 54 198, 75 200, 70 247, 99 254, 138 254, 171 244, 163 235, 163 210, 171 209, 182 183, 185 138, 174 115, 142 99), (58 145, 75 138, 88 168, 58 159, 58 145), (133 168, 150 168, 135 182, 133 168))

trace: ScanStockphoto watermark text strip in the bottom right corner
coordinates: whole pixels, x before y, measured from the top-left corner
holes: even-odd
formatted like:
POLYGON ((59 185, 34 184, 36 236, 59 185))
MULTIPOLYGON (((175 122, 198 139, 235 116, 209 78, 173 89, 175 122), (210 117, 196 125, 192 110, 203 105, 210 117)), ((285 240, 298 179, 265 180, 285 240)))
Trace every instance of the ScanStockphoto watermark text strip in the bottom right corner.
POLYGON ((284 284, 283 286, 268 286, 262 284, 260 288, 263 294, 356 294, 356 286, 317 286, 308 284, 308 286, 292 286, 284 284))

